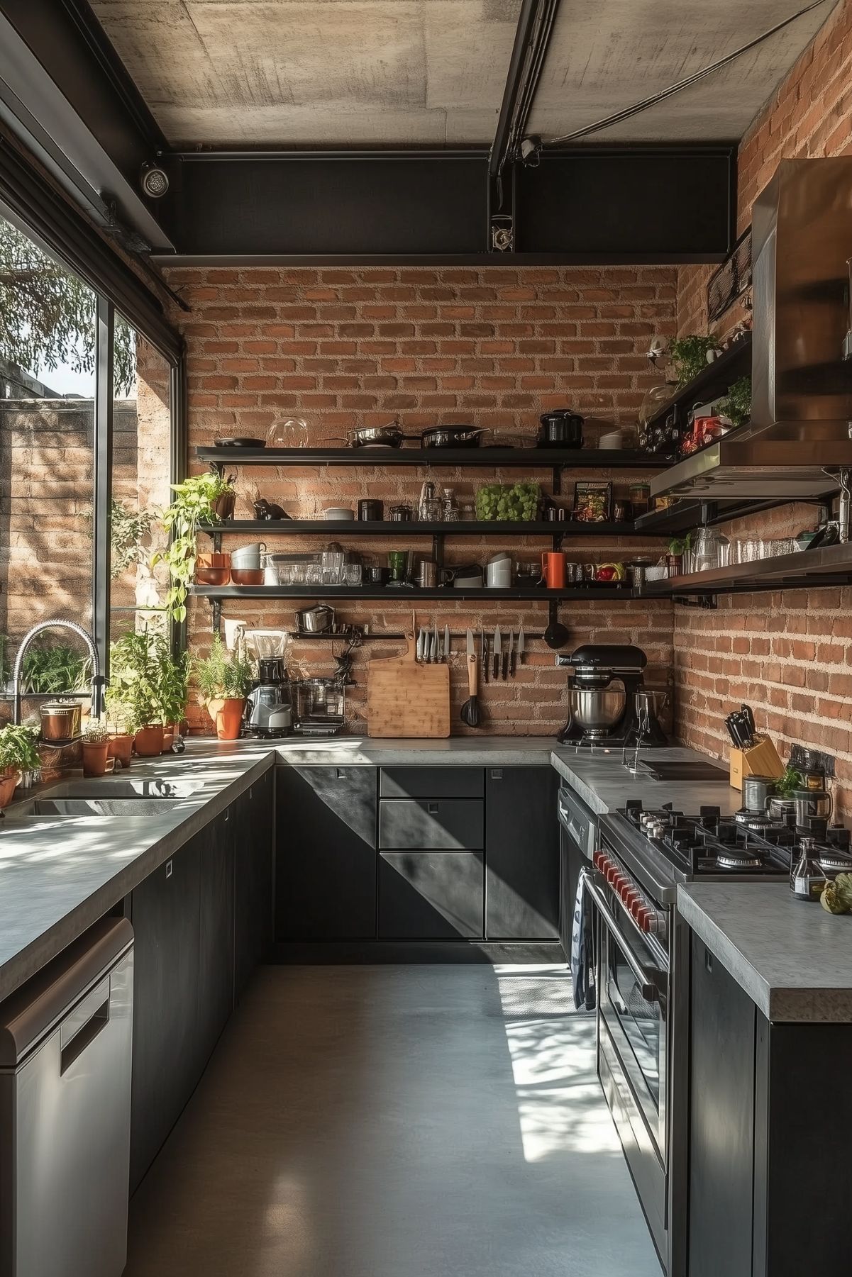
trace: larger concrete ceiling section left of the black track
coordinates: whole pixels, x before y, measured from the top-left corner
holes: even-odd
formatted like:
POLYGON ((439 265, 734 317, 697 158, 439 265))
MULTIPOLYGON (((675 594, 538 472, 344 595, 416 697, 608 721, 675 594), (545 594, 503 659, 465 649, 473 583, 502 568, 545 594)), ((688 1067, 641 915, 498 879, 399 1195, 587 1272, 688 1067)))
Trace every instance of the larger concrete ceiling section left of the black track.
POLYGON ((95 0, 172 144, 489 143, 521 0, 95 0))

